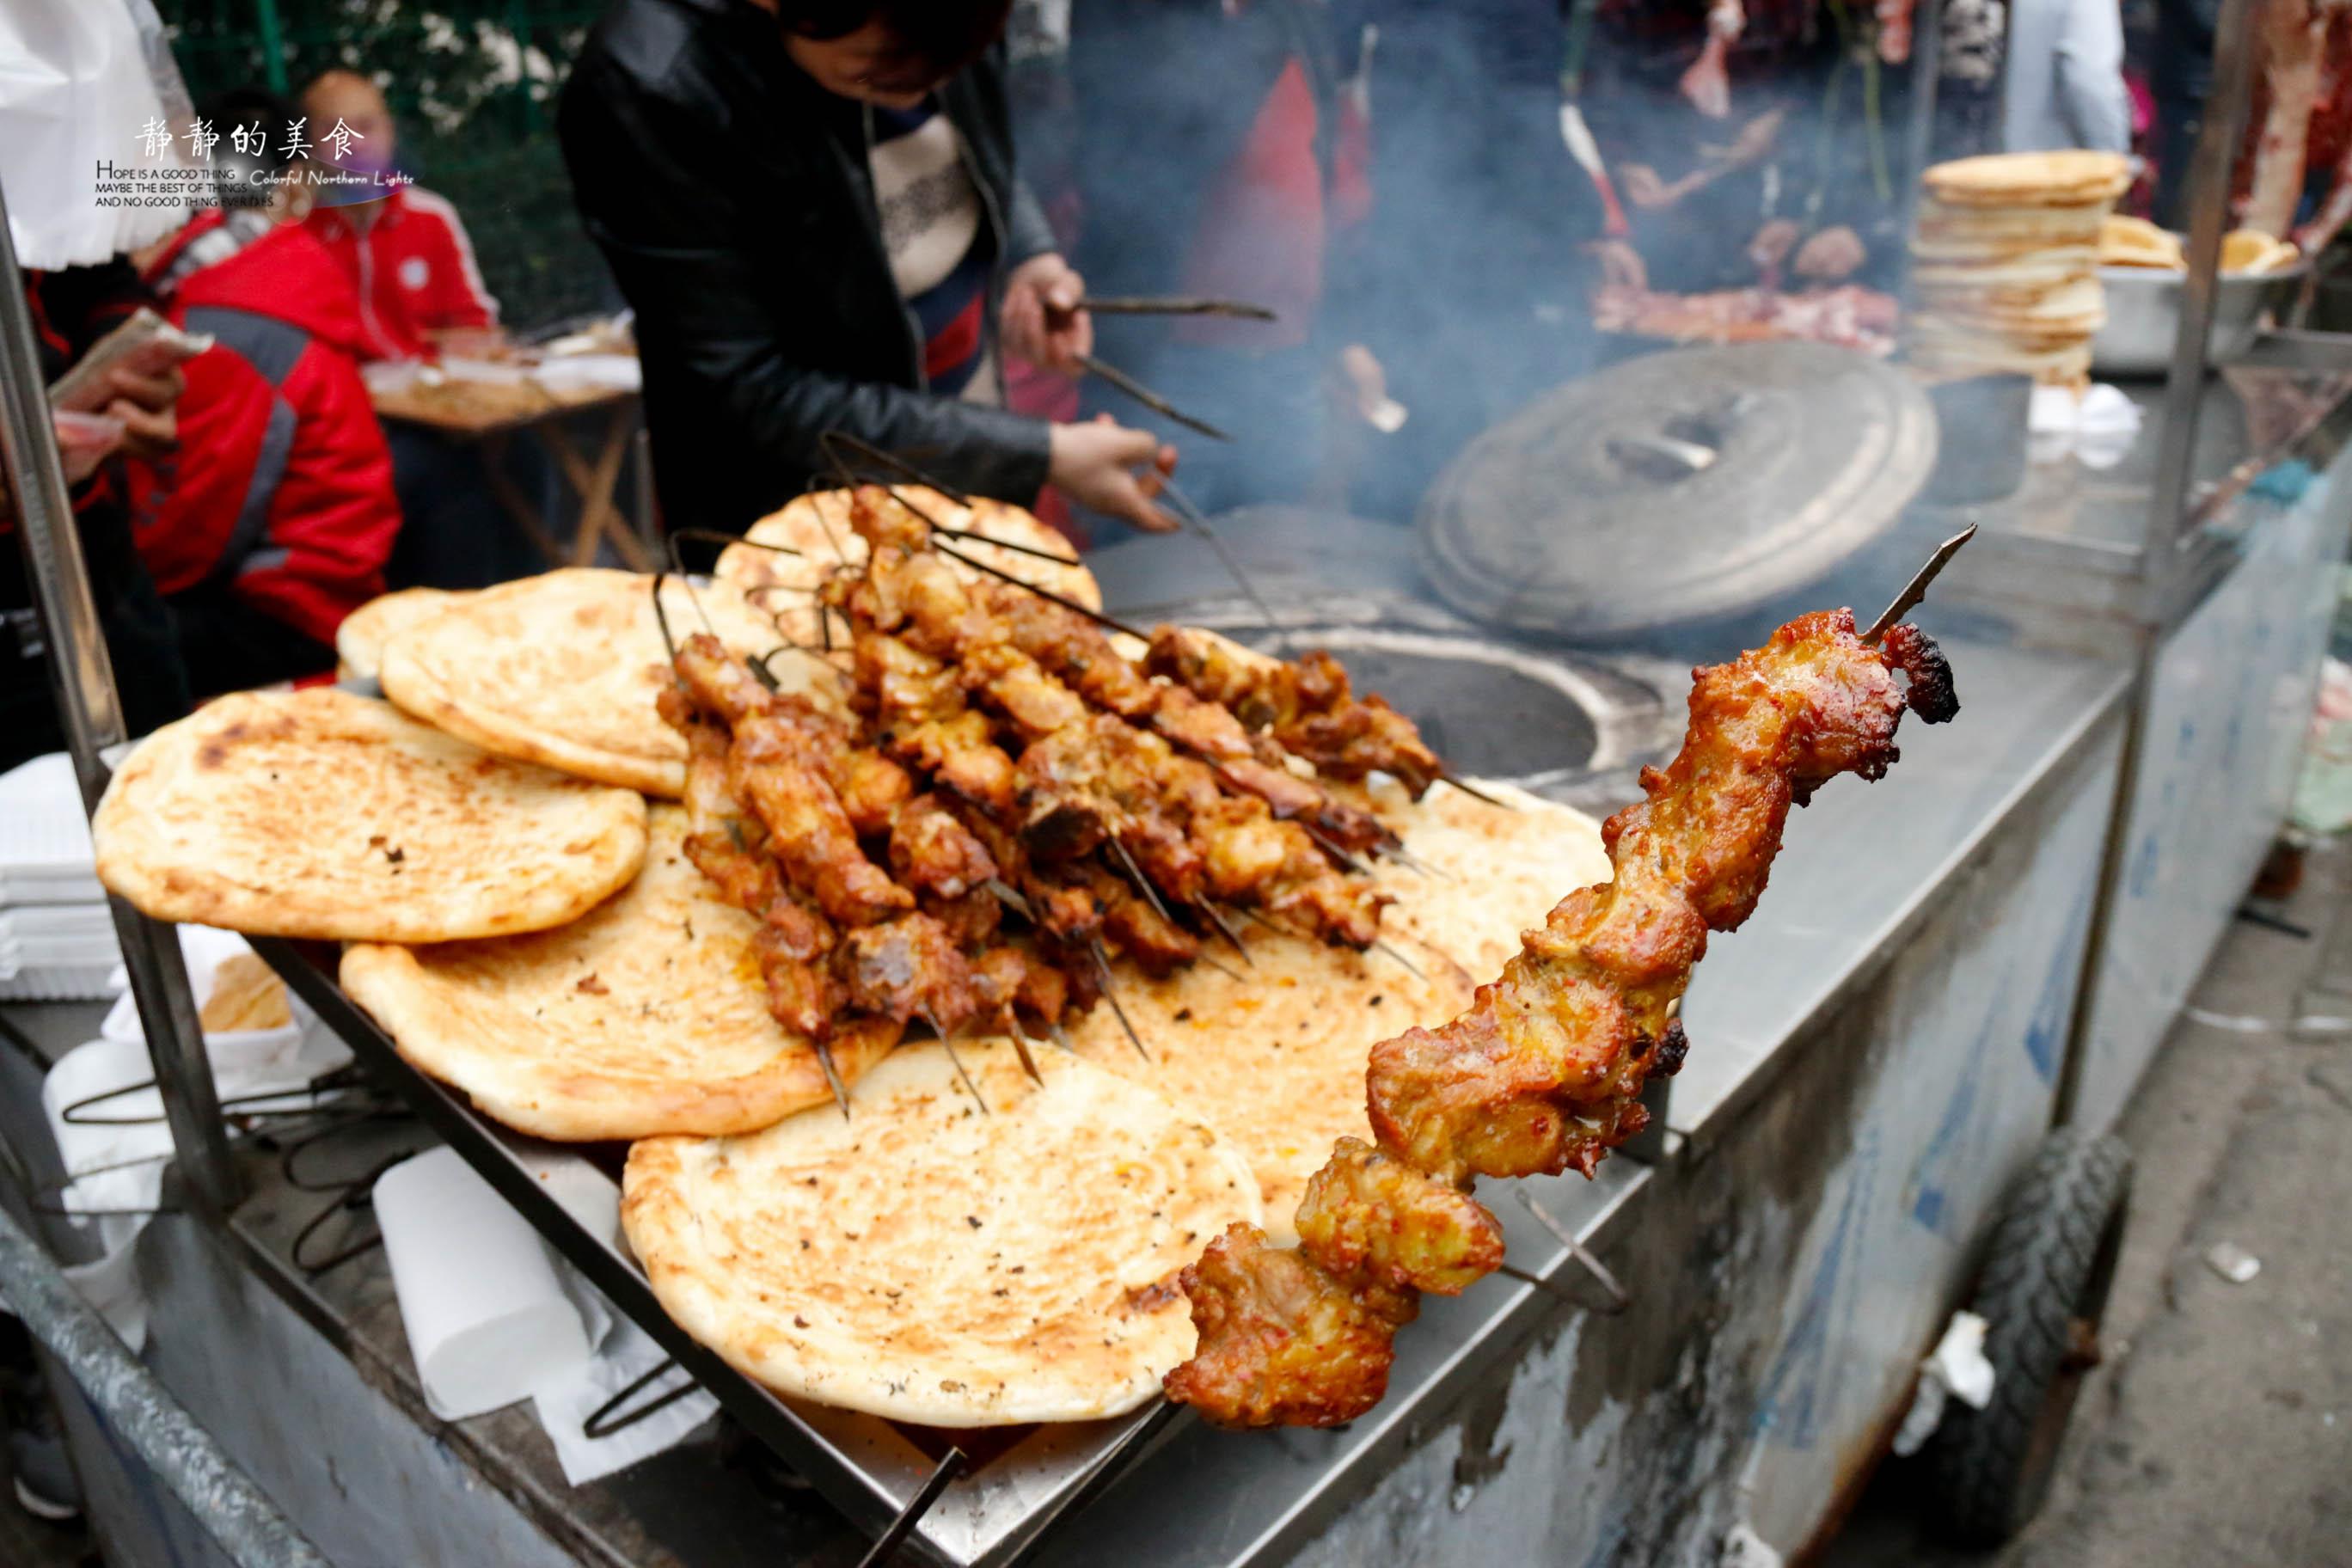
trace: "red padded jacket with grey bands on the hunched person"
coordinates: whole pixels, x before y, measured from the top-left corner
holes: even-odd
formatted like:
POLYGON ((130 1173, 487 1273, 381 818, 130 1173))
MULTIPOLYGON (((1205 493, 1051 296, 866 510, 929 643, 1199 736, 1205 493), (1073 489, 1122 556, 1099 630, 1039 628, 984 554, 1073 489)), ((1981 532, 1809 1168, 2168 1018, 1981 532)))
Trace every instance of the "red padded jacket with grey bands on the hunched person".
POLYGON ((221 212, 183 228, 148 277, 174 324, 216 343, 186 367, 179 451, 132 463, 139 555, 167 595, 228 583, 332 642, 346 614, 383 592, 400 531, 350 284, 301 228, 235 247, 221 212), (198 259, 207 266, 191 270, 198 259))

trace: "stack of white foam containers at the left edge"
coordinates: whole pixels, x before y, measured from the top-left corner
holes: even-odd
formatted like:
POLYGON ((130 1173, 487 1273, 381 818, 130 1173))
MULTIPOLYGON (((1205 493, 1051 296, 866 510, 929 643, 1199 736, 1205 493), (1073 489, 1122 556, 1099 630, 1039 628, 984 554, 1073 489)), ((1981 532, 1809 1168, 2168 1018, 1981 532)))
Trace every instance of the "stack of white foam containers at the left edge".
POLYGON ((64 752, 0 776, 0 1001, 111 997, 122 964, 64 752))

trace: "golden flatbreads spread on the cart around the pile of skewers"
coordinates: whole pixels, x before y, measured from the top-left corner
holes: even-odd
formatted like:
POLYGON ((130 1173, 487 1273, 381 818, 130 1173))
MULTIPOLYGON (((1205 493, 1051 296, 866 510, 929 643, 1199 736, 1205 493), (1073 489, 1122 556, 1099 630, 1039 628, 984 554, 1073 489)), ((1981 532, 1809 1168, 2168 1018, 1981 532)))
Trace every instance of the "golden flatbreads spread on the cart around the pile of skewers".
MULTIPOLYGON (((1035 517, 910 494, 974 559, 1101 602, 1040 559, 1035 517)), ((99 809, 99 875, 165 919, 343 940, 343 990, 414 1067, 517 1131, 630 1143, 654 1293, 769 1387, 953 1427, 1129 1410, 1192 1349, 1176 1272, 1232 1220, 1289 1237, 1331 1143, 1369 1135, 1371 1044, 1458 1013, 1522 926, 1606 877, 1599 832, 1534 797, 1390 792, 1435 867, 1383 872, 1390 952, 1244 926, 1247 971, 1122 966, 1145 1048, 1096 1009, 1068 1051, 1033 1046, 1042 1086, 1009 1041, 957 1041, 967 1084, 936 1044, 840 1030, 844 1119, 767 1011, 757 922, 659 802, 682 783, 663 623, 833 701, 807 590, 856 557, 844 496, 750 538, 793 552, 736 545, 659 611, 623 571, 379 602, 341 654, 390 701, 233 696, 158 731, 99 809)))

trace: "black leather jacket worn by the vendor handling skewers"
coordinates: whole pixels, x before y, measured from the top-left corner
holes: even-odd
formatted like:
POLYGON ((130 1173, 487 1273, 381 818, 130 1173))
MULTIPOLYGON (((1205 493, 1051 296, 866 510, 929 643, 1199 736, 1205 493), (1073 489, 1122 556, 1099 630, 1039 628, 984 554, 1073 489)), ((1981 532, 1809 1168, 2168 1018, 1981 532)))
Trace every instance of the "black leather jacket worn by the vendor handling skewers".
MULTIPOLYGON (((997 277, 1054 249, 1014 174, 1002 52, 941 89, 997 230, 997 277)), ((849 430, 1028 503, 1047 425, 924 390, 891 282, 868 110, 811 82, 746 0, 614 0, 557 113, 588 235, 637 310, 654 482, 670 527, 741 531, 849 430)))

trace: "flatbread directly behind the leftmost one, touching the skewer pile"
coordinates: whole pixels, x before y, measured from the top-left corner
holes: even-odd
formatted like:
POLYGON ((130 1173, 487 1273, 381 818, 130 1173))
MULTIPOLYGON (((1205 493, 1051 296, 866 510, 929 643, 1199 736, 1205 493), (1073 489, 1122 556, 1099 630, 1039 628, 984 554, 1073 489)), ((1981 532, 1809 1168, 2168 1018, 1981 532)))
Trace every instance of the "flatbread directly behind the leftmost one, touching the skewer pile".
MULTIPOLYGON (((654 708, 675 677, 652 588, 635 571, 576 567, 466 595, 386 649, 383 696, 501 757, 675 797, 687 743, 654 708)), ((673 578, 661 595, 673 637, 708 625, 739 656, 783 644, 729 585, 673 578)), ((814 658, 776 658, 769 672, 833 701, 835 677, 814 658)))

